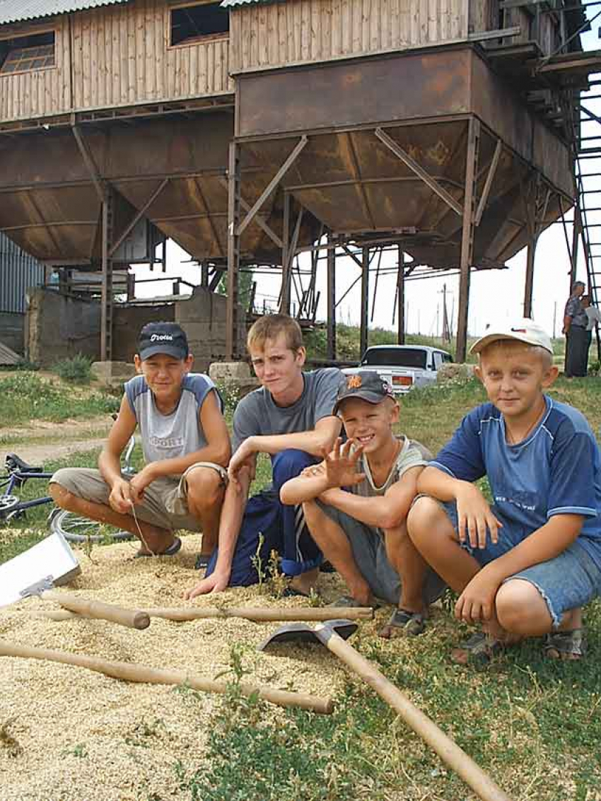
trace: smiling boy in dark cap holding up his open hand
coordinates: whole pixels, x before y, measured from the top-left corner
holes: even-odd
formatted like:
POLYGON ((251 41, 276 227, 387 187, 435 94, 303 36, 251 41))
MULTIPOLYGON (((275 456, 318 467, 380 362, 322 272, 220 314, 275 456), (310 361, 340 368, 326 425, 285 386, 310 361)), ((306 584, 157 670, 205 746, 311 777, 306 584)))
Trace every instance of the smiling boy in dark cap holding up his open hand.
POLYGON ((350 594, 336 606, 374 605, 381 598, 397 606, 381 637, 419 634, 444 588, 405 525, 430 453, 394 436, 399 407, 377 372, 348 376, 333 411, 349 440, 342 446, 338 440, 320 465, 284 484, 281 500, 302 504, 313 539, 345 579, 350 594))

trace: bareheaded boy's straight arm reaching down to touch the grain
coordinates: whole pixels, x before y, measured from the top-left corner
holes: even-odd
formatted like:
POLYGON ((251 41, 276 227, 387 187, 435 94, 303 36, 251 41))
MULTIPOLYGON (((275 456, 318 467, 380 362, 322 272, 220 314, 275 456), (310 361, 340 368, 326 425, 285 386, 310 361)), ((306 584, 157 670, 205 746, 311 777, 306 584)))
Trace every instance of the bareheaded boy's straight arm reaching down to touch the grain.
POLYGON ((247 467, 240 470, 236 483, 230 482, 225 490, 224 505, 221 509, 219 524, 219 548, 215 570, 204 578, 192 590, 184 594, 184 598, 196 598, 196 595, 207 593, 220 593, 228 587, 232 574, 232 558, 242 525, 244 509, 248 501, 248 491, 251 485, 251 472, 247 467))

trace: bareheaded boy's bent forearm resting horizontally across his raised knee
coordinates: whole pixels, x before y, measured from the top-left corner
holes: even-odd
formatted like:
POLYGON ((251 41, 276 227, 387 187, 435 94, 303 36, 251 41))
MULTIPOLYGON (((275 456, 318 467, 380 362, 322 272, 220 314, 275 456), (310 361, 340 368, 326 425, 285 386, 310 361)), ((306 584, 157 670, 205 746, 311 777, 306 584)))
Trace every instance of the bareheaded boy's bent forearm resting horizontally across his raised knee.
POLYGON ((292 434, 273 434, 247 437, 233 454, 229 463, 230 478, 236 481, 236 473, 241 465, 253 453, 269 453, 273 455, 287 449, 296 449, 321 456, 329 452, 341 431, 341 421, 337 417, 322 417, 313 431, 300 431, 292 434))

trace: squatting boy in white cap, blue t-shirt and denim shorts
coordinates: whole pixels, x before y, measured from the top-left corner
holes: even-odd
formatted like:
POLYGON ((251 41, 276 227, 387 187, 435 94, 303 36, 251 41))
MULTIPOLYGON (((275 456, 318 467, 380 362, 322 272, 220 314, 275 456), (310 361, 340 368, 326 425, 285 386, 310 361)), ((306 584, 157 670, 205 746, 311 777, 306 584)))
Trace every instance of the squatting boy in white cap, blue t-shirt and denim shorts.
POLYGON ((459 594, 455 616, 482 626, 455 661, 487 661, 543 635, 547 655, 580 658, 582 606, 601 594, 595 436, 577 409, 545 394, 558 368, 532 320, 489 329, 472 352, 489 403, 418 477, 409 536, 459 594), (492 504, 473 483, 484 476, 492 504))

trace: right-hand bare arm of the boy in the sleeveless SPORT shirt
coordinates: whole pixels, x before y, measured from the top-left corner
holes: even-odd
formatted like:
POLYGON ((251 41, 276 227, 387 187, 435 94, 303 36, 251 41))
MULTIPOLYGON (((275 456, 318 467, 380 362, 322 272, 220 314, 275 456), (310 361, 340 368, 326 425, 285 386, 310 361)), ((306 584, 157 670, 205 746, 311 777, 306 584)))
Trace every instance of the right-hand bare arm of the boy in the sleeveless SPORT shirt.
POLYGON ((216 465, 227 467, 232 448, 229 441, 228 427, 221 413, 214 392, 210 392, 200 407, 200 425, 204 431, 207 445, 183 457, 152 461, 131 480, 136 493, 155 481, 159 476, 180 476, 197 461, 212 461, 216 465))

